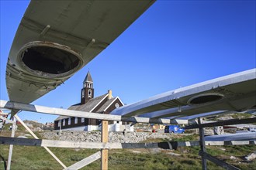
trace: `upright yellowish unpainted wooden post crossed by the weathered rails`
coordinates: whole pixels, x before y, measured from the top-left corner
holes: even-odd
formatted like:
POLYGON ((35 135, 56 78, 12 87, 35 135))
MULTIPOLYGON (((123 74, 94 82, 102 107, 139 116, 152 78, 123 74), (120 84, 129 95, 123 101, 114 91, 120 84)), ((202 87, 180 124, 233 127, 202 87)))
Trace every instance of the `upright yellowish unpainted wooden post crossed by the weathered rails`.
MULTIPOLYGON (((109 121, 102 121, 102 142, 109 141, 109 121)), ((102 149, 102 170, 108 169, 108 149, 102 149)))

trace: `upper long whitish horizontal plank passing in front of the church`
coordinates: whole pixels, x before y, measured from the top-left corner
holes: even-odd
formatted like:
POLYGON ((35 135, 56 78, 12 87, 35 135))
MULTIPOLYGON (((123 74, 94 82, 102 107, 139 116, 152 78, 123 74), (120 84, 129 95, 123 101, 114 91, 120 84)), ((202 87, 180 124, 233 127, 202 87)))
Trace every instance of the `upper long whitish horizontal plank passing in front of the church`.
POLYGON ((70 117, 85 117, 106 121, 126 121, 134 123, 150 123, 150 124, 188 124, 187 120, 170 120, 161 118, 148 118, 148 117, 122 117, 112 114, 97 114, 78 110, 66 110, 55 107, 43 107, 33 104, 22 104, 18 102, 11 102, 0 100, 0 107, 7 109, 26 110, 42 114, 54 114, 70 117))

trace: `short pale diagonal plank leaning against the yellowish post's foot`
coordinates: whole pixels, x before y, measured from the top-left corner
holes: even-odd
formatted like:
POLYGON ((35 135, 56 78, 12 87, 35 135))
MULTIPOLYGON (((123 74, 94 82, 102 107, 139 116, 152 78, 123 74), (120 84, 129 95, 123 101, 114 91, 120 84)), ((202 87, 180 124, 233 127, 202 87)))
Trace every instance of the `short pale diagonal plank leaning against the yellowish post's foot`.
POLYGON ((72 169, 80 169, 85 167, 86 165, 91 164, 92 162, 97 161, 99 158, 101 158, 101 152, 98 151, 95 154, 88 156, 87 158, 84 158, 80 162, 77 162, 67 168, 64 168, 65 170, 72 170, 72 169))

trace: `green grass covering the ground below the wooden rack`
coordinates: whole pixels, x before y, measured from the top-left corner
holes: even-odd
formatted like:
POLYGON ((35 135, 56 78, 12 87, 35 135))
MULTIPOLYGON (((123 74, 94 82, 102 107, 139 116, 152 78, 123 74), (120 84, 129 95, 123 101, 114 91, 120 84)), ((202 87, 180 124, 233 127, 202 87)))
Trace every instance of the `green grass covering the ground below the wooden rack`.
MULTIPOLYGON (((19 128, 18 128, 19 129, 19 128)), ((17 131, 16 134, 24 134, 24 131, 17 131)), ((6 132, 9 136, 10 132, 6 132)), ((2 135, 2 134, 1 134, 2 135)), ((37 134, 38 135, 38 134, 37 134)), ((199 135, 173 135, 172 141, 197 141, 199 135)), ((168 139, 147 139, 147 142, 161 142, 168 139)), ((178 150, 158 150, 152 152, 150 149, 115 149, 109 150, 109 169, 201 169, 201 157, 199 147, 183 147, 178 150), (136 152, 133 152, 136 151, 136 152), (178 154, 171 155, 171 153, 178 154)), ((70 166, 81 161, 83 158, 99 151, 97 149, 71 149, 71 148, 50 148, 57 155, 57 158, 70 166)), ((256 169, 256 160, 245 162, 243 157, 256 151, 255 145, 243 146, 207 146, 207 153, 216 156, 231 165, 240 169, 256 169), (237 159, 230 159, 234 156, 237 159)), ((40 147, 14 146, 12 155, 12 169, 62 169, 54 158, 47 151, 40 147)), ((0 170, 5 169, 9 155, 9 145, 0 145, 0 170)), ((208 169, 221 169, 212 162, 207 162, 208 169)), ((81 169, 100 169, 100 160, 81 169)))

